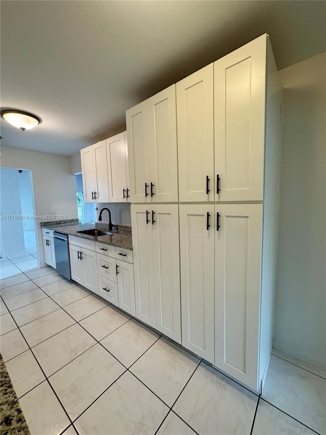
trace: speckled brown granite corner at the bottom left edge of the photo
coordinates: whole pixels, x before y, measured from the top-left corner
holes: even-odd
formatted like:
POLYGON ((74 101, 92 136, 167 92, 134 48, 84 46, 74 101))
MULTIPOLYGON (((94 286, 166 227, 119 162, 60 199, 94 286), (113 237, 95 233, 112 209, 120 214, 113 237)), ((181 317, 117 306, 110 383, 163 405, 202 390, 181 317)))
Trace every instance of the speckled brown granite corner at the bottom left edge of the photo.
POLYGON ((31 435, 1 354, 0 379, 1 435, 31 435))

